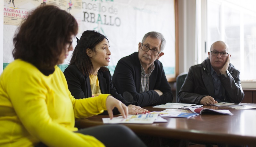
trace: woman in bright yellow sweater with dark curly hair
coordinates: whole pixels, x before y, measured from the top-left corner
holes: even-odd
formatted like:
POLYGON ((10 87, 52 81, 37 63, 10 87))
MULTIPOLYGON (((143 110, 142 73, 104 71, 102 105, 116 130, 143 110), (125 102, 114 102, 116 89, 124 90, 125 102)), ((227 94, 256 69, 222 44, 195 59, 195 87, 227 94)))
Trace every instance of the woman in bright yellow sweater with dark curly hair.
POLYGON ((0 146, 145 146, 127 127, 103 125, 78 130, 75 118, 127 107, 111 95, 75 99, 57 64, 73 50, 75 18, 56 6, 38 7, 18 28, 14 61, 0 76, 0 146), (122 135, 120 135, 120 133, 122 135))

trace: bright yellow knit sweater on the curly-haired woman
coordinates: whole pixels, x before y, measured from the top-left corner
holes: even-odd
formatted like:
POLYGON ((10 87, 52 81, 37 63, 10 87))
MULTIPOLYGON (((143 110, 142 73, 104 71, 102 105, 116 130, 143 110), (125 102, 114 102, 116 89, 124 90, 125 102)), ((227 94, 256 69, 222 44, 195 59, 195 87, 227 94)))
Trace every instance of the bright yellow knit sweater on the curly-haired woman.
POLYGON ((75 99, 58 66, 45 76, 32 64, 14 60, 0 76, 0 146, 104 146, 73 131, 75 118, 106 110, 107 96, 75 99))

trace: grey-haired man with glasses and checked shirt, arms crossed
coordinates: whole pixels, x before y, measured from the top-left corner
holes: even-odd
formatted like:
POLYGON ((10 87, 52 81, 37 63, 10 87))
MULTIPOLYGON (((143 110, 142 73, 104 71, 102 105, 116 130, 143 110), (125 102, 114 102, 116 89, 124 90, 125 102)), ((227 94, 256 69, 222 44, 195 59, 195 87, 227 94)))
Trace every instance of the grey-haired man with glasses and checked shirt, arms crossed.
POLYGON ((165 39, 161 33, 149 32, 139 43, 138 52, 121 58, 113 74, 113 85, 127 101, 139 106, 172 102, 171 87, 158 59, 164 54, 165 39))

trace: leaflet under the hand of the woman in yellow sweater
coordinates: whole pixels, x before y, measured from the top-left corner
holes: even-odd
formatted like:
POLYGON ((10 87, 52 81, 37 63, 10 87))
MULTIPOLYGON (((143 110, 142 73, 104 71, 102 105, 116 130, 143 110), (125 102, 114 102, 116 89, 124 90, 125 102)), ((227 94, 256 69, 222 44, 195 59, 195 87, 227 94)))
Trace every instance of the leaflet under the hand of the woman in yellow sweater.
POLYGON ((104 124, 116 124, 116 123, 137 123, 137 124, 152 124, 159 114, 138 114, 138 115, 128 115, 125 119, 122 116, 114 117, 112 120, 110 118, 103 118, 104 124))

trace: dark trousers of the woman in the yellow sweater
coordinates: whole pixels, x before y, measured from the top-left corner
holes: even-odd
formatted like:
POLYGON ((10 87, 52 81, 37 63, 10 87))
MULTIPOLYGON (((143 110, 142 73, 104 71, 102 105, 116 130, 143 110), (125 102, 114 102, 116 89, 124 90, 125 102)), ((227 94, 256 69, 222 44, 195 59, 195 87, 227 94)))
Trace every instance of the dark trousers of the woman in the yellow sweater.
MULTIPOLYGON (((139 137, 124 125, 102 125, 80 129, 77 132, 94 136, 106 147, 146 147, 139 137)), ((46 147, 46 145, 39 143, 36 147, 46 147)))

